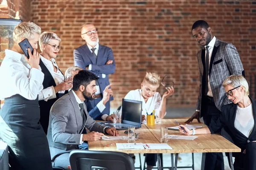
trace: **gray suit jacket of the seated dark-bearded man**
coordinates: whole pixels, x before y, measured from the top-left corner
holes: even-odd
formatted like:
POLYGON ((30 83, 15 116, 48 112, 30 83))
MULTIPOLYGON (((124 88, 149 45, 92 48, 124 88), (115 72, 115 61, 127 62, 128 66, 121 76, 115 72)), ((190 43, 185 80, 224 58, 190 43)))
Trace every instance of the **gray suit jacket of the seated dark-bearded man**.
POLYGON ((84 105, 85 119, 83 121, 79 105, 72 91, 58 99, 51 108, 47 139, 51 159, 62 153, 70 153, 80 144, 84 127, 90 131, 104 133, 104 125, 95 122, 88 114, 84 105))

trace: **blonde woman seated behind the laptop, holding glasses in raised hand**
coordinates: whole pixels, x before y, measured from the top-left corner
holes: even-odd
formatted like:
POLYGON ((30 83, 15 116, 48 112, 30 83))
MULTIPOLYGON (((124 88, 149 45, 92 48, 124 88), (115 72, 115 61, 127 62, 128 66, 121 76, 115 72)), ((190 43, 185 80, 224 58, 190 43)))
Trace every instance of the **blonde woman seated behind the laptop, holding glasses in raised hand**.
MULTIPOLYGON (((166 114, 166 99, 174 93, 173 87, 166 86, 166 92, 161 98, 157 88, 160 85, 160 77, 156 73, 147 73, 141 83, 141 89, 129 91, 125 99, 142 101, 142 121, 146 119, 146 115, 151 114, 153 110, 157 113, 157 117, 163 119, 166 114)), ((132 155, 135 159, 135 156, 132 155)), ((156 166, 157 154, 146 154, 147 170, 151 170, 156 166)))

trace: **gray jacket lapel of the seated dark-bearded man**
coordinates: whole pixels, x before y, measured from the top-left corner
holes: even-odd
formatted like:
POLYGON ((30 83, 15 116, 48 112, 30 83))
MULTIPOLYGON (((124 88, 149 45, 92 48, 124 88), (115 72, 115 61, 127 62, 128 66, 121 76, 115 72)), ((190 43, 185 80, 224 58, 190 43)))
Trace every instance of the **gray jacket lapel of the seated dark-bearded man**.
POLYGON ((79 133, 81 131, 81 128, 83 129, 83 127, 84 127, 84 122, 81 122, 81 112, 79 110, 78 103, 76 102, 76 98, 75 98, 72 90, 68 94, 70 95, 70 102, 72 103, 74 111, 75 111, 76 125, 78 127, 77 133, 79 133))

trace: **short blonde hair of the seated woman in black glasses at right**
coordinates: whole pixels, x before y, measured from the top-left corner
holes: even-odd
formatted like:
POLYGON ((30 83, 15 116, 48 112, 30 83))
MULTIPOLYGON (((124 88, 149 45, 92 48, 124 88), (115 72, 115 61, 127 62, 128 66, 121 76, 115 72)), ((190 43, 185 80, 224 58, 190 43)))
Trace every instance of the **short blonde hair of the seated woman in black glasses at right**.
POLYGON ((227 77, 222 86, 225 88, 226 85, 232 85, 234 88, 238 87, 239 85, 244 87, 245 96, 249 95, 249 86, 248 82, 242 75, 231 75, 227 77))

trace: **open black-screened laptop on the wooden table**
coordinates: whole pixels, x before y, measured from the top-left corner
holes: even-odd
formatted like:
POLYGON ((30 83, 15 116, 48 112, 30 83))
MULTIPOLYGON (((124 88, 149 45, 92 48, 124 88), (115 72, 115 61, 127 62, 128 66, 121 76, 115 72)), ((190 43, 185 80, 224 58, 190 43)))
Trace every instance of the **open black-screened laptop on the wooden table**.
POLYGON ((128 129, 133 126, 141 127, 142 102, 122 99, 122 123, 107 123, 105 126, 115 127, 117 130, 128 129))

